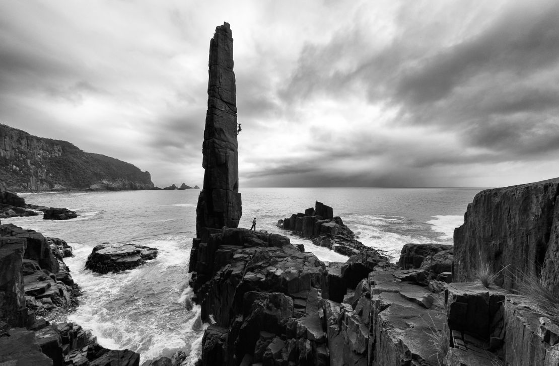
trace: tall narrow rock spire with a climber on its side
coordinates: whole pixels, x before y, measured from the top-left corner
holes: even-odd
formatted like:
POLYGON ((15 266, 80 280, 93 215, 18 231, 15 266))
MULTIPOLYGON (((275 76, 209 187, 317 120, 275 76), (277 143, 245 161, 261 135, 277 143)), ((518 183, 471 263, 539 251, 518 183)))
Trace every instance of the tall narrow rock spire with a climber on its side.
POLYGON ((209 67, 202 144, 204 184, 196 208, 198 237, 204 227, 237 227, 241 218, 233 37, 229 23, 215 28, 210 41, 209 67))

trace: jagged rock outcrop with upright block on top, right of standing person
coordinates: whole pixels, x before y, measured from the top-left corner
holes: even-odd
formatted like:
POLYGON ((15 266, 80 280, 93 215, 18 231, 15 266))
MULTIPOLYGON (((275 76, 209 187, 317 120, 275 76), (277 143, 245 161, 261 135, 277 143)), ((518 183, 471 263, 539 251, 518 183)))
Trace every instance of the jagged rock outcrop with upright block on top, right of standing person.
POLYGON ((315 202, 314 208, 307 208, 305 213, 293 213, 291 217, 278 221, 278 227, 290 230, 294 235, 312 239, 316 245, 325 246, 347 256, 371 250, 355 238, 355 234, 344 225, 342 218, 334 217, 330 206, 318 201, 315 202))

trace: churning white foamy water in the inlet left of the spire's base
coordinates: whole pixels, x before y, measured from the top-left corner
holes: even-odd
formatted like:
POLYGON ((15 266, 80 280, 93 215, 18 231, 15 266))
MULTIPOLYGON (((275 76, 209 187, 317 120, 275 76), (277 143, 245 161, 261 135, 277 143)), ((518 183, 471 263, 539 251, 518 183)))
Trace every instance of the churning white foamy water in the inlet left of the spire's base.
POLYGON ((179 349, 190 353, 192 340, 201 337, 205 326, 187 286, 188 241, 180 235, 136 241, 158 248, 158 257, 136 269, 105 275, 83 268, 91 246, 73 244, 75 257, 67 263, 84 297, 69 320, 86 325, 106 348, 138 351, 141 362, 171 357, 179 349))

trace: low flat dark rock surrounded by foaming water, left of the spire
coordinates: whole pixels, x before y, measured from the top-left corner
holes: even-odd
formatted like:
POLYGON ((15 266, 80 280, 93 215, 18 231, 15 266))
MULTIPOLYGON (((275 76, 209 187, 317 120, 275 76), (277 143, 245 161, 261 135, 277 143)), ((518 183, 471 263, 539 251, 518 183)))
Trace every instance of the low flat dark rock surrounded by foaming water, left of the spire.
POLYGON ((103 243, 87 257, 86 269, 105 274, 133 269, 157 257, 158 249, 137 244, 103 243))

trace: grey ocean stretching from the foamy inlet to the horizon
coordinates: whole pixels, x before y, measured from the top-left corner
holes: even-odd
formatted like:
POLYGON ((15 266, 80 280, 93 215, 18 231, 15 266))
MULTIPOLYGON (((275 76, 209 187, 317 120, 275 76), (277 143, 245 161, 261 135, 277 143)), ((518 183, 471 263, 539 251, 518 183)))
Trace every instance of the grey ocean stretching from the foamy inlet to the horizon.
MULTIPOLYGON (((305 244, 325 262, 347 257, 309 240, 288 235, 277 221, 314 207, 315 201, 334 209, 363 244, 385 251, 396 261, 406 243, 452 244, 454 228, 462 225, 468 203, 481 188, 244 188, 240 227, 290 237, 305 244)), ((193 364, 200 356, 203 329, 200 307, 191 307, 188 260, 196 233, 198 189, 20 193, 27 203, 67 207, 80 216, 68 221, 42 216, 2 220, 24 229, 59 237, 73 247, 65 262, 83 289, 80 306, 67 319, 89 329, 106 348, 131 349, 141 363, 177 350, 193 364), (158 258, 117 274, 98 275, 84 269, 94 246, 105 241, 135 243, 159 249, 158 258), (190 310, 188 310, 190 309, 190 310)))

